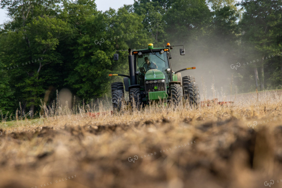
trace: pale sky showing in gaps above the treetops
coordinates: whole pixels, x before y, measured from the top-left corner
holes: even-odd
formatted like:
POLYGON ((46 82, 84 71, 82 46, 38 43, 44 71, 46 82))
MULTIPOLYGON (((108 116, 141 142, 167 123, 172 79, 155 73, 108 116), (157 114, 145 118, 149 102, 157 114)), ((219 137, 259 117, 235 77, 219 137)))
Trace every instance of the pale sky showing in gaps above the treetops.
MULTIPOLYGON (((118 8, 123 7, 124 4, 133 4, 134 0, 96 0, 95 3, 97 5, 97 9, 104 12, 110 7, 118 10, 118 8)), ((0 24, 10 20, 10 18, 7 16, 7 13, 8 11, 0 9, 0 24)))

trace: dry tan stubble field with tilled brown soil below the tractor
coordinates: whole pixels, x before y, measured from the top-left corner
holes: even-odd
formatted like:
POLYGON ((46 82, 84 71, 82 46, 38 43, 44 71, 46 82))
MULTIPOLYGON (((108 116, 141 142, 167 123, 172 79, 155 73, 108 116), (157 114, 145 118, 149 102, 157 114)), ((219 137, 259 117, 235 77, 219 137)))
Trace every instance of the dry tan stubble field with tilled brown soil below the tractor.
POLYGON ((0 136, 0 187, 257 188, 270 180, 281 187, 281 95, 232 99, 229 106, 154 104, 97 118, 87 112, 108 111, 107 100, 73 109, 42 104, 44 123, 2 125, 2 133, 20 130, 0 136))

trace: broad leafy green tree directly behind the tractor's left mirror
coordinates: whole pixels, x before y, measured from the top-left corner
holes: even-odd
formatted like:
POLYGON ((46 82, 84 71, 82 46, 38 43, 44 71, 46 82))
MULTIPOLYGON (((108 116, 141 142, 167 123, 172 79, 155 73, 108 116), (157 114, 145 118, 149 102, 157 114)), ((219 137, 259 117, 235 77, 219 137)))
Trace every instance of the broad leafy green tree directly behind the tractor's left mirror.
POLYGON ((109 73, 128 74, 126 52, 120 52, 119 61, 114 62, 116 50, 138 49, 149 42, 145 31, 141 32, 143 18, 128 11, 128 8, 85 15, 85 23, 81 25, 83 33, 74 49, 75 68, 66 80, 86 101, 109 93, 111 82, 122 81, 122 78, 109 77, 109 73), (99 41, 102 42, 99 44, 99 41))

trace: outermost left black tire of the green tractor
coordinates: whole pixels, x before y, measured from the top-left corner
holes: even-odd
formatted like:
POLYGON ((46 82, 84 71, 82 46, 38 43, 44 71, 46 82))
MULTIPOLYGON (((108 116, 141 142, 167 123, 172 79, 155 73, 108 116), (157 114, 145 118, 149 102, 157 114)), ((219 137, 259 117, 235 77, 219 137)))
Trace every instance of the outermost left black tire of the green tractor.
POLYGON ((124 101, 123 82, 114 82, 111 84, 112 88, 112 109, 113 111, 120 111, 124 101))

